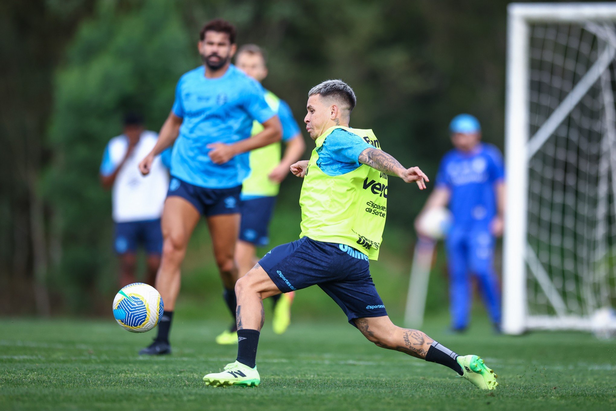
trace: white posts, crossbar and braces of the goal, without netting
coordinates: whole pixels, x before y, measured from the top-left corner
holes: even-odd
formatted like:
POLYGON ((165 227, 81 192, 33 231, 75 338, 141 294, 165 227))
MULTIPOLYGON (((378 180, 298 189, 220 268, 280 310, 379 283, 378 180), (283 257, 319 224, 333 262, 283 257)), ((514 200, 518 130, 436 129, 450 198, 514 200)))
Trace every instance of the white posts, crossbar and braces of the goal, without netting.
MULTIPOLYGON (((507 207, 506 233, 503 260, 503 332, 521 334, 529 329, 591 330, 586 317, 556 315, 532 316, 528 314, 527 275, 537 277, 549 303, 558 312, 560 295, 551 292, 547 274, 535 269, 527 273, 527 266, 536 265, 533 252, 527 243, 527 205, 529 184, 529 159, 545 143, 556 127, 590 87, 582 79, 561 102, 553 115, 530 136, 530 30, 531 23, 616 22, 616 2, 596 3, 513 3, 508 6, 507 28, 507 80, 506 80, 506 174, 507 207), (586 87, 586 88, 585 88, 586 87), (576 100, 577 99, 577 100, 576 100), (561 110, 562 109, 562 110, 561 110), (561 112, 559 113, 559 110, 561 112), (548 284, 546 284, 546 281, 548 284)), ((614 59, 612 55, 610 61, 614 59)), ((603 60, 606 60, 605 58, 603 60)), ((601 62, 601 57, 596 62, 601 62)), ((588 73, 593 77, 595 67, 588 73)), ((603 66, 603 69, 606 66, 603 66)), ((597 68, 596 71, 603 71, 597 68)), ((598 78, 598 74, 597 74, 598 78)))

